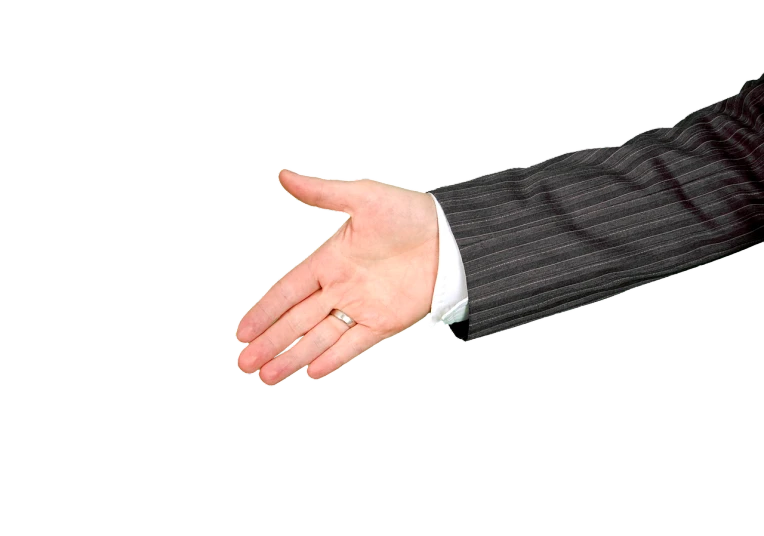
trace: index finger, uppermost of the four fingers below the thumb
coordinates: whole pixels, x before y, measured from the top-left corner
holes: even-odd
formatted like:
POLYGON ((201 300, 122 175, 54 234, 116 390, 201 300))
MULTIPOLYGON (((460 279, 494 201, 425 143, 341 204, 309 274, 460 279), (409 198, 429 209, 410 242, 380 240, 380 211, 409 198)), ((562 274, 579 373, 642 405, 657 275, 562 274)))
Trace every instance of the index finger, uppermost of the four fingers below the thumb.
POLYGON ((259 337, 281 315, 321 288, 311 269, 312 259, 311 254, 292 268, 252 306, 236 330, 238 340, 250 342, 259 337))

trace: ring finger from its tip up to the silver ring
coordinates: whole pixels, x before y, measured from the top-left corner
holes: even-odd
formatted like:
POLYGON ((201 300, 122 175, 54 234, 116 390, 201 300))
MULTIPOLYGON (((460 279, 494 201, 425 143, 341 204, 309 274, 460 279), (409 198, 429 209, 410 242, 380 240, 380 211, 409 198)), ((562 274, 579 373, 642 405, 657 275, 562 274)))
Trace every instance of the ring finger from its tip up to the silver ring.
POLYGON ((327 316, 300 341, 260 369, 260 379, 267 385, 283 381, 331 348, 350 327, 342 320, 327 316))

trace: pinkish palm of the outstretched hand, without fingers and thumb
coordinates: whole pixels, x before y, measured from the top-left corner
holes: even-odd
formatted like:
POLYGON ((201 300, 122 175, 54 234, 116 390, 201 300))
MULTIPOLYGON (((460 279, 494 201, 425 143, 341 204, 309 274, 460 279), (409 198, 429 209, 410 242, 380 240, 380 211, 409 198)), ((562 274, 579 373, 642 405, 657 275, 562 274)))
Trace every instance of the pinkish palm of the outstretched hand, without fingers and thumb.
POLYGON ((316 275, 321 287, 336 292, 338 303, 357 311, 353 319, 381 340, 429 312, 435 273, 428 268, 437 257, 437 230, 428 233, 424 222, 411 221, 421 213, 420 201, 432 203, 420 199, 425 196, 379 183, 361 185, 381 186, 387 195, 359 207, 327 241, 327 251, 319 248, 316 275))

